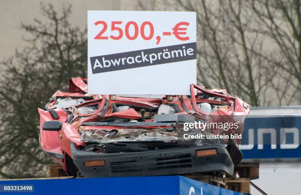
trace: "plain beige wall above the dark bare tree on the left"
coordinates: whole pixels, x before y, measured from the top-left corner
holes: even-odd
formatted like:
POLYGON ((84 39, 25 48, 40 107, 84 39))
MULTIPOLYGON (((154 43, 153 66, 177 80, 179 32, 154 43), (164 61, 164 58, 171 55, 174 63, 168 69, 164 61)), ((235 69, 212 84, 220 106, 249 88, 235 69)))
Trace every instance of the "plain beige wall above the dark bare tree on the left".
POLYGON ((0 0, 0 61, 22 49, 26 34, 21 23, 30 24, 34 18, 43 21, 40 2, 52 3, 60 8, 62 3, 72 4, 70 22, 80 27, 87 26, 87 10, 134 10, 135 0, 0 0))

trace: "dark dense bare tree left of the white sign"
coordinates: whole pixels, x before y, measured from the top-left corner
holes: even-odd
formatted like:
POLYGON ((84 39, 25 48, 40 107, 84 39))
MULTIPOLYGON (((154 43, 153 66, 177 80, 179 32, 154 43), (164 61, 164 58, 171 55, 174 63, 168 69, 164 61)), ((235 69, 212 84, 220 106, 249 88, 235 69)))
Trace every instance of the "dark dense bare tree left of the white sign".
POLYGON ((68 22, 71 6, 59 14, 53 5, 41 4, 41 13, 46 22, 22 24, 29 47, 1 63, 0 177, 46 174, 51 160, 39 147, 37 108, 66 89, 70 77, 86 76, 87 32, 68 22))

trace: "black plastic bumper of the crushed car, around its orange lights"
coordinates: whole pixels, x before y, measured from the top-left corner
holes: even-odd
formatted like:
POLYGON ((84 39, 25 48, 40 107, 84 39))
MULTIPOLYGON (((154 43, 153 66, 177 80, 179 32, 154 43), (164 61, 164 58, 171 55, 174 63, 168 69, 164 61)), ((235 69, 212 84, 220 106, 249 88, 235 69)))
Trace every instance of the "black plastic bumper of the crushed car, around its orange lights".
POLYGON ((224 146, 190 146, 125 153, 95 153, 71 143, 74 164, 85 177, 173 175, 221 171, 233 174, 234 165, 224 146), (217 155, 197 157, 196 150, 213 149, 217 155), (85 161, 105 160, 104 166, 85 167, 85 161))

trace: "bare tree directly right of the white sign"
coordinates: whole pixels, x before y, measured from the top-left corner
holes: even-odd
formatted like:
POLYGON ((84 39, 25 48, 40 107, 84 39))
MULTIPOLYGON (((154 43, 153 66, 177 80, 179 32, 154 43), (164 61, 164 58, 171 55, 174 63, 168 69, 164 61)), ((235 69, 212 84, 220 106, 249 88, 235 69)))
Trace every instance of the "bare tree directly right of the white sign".
POLYGON ((242 2, 167 0, 165 8, 197 12, 198 83, 225 88, 252 106, 270 105, 264 97, 277 69, 268 69, 263 36, 251 28, 255 14, 242 2))

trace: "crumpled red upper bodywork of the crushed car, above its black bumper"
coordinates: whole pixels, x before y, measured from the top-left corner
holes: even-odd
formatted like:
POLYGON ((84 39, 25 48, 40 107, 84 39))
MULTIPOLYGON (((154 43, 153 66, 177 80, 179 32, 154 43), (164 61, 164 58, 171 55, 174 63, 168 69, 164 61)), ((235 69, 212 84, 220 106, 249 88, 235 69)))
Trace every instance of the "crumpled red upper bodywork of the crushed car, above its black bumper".
MULTIPOLYGON (((85 145, 120 141, 177 141, 181 130, 177 121, 160 121, 162 116, 192 116, 195 121, 237 122, 238 128, 211 128, 213 134, 241 134, 249 105, 226 90, 190 85, 190 96, 172 99, 120 97, 87 94, 86 78, 71 78, 69 92, 57 91, 40 114, 40 144, 49 152, 60 153, 65 144, 85 145), (158 117, 159 116, 159 117, 158 117), (60 131, 44 131, 45 121, 63 122, 60 131), (63 143, 63 144, 62 144, 63 143)), ((189 118, 189 117, 188 117, 189 118)), ((240 144, 240 139, 236 143, 240 144)))

